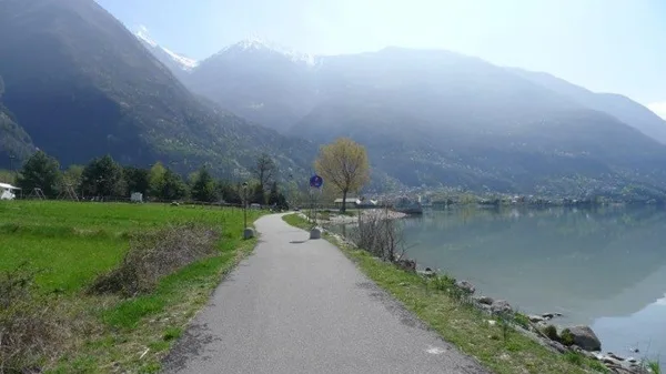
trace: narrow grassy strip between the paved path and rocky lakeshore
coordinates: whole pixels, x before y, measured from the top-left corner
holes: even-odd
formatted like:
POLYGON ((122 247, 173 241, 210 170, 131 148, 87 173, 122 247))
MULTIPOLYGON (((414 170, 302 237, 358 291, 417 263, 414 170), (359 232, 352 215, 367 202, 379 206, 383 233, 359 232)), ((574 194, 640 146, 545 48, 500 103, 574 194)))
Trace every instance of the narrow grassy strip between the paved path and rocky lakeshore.
MULTIPOLYGON (((310 226, 296 214, 285 215, 283 220, 296 228, 310 226)), ((503 321, 488 323, 488 315, 444 291, 447 290, 443 286, 447 282, 442 283, 444 277, 426 281, 415 273, 380 261, 363 250, 350 249, 329 235, 325 237, 444 340, 476 357, 497 374, 582 374, 606 371, 601 363, 583 355, 553 353, 536 341, 513 328, 506 328, 503 321)))

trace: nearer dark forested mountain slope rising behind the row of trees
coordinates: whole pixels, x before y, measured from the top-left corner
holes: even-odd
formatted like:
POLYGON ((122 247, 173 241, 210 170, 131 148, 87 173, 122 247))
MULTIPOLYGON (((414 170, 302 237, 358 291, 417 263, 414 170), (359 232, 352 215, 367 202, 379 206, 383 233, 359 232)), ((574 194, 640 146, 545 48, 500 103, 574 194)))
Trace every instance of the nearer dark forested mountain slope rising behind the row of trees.
POLYGON ((0 55, 6 105, 63 164, 110 153, 231 173, 266 151, 295 172, 316 151, 202 103, 93 0, 1 1, 0 55))

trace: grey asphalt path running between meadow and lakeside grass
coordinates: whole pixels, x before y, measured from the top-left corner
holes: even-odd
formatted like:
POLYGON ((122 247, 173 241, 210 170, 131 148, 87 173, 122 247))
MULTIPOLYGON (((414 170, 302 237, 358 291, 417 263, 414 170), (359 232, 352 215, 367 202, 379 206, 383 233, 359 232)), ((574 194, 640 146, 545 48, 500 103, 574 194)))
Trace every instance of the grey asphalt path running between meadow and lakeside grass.
POLYGON ((281 215, 218 287, 164 373, 488 373, 325 240, 281 215))

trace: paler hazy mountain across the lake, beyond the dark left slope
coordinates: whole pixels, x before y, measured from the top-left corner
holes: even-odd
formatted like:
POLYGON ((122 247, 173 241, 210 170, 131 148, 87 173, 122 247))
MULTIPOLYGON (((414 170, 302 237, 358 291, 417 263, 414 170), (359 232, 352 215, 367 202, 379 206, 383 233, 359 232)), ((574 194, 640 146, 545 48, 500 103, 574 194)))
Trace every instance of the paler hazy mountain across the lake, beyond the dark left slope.
POLYGON ((407 185, 608 192, 666 181, 666 148, 655 141, 666 141, 666 122, 645 107, 453 52, 313 58, 252 39, 183 81, 292 137, 351 137, 376 169, 407 185))

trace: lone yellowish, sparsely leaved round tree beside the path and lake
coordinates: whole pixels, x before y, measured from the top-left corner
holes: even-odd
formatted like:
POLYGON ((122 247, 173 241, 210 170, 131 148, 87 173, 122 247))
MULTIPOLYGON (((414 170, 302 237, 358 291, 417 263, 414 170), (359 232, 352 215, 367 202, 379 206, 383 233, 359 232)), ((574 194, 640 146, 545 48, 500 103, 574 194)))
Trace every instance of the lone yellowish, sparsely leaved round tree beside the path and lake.
POLYGON ((323 145, 314 169, 324 179, 324 183, 332 184, 342 193, 341 212, 346 211, 347 193, 359 192, 370 181, 365 148, 347 138, 323 145))

